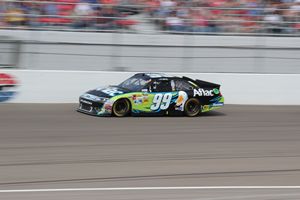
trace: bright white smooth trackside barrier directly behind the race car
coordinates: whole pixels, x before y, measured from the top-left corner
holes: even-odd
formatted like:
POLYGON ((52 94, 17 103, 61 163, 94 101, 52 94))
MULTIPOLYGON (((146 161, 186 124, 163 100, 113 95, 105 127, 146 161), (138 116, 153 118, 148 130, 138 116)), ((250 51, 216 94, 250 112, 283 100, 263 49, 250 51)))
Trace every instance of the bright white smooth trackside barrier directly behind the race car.
MULTIPOLYGON (((134 72, 0 70, 18 83, 11 103, 76 103, 88 89, 118 84, 134 72)), ((300 105, 300 74, 170 73, 221 84, 227 104, 300 105)), ((1 85, 1 83, 0 83, 1 85)))

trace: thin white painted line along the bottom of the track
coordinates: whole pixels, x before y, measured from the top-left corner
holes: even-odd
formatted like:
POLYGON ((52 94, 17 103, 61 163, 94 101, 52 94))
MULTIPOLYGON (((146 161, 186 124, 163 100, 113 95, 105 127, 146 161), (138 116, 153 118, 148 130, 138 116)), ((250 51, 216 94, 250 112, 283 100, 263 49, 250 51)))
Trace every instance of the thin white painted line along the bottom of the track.
POLYGON ((137 190, 236 190, 236 189, 300 189, 300 186, 188 186, 188 187, 111 187, 111 188, 53 188, 53 189, 11 189, 0 193, 22 192, 76 192, 76 191, 137 191, 137 190))

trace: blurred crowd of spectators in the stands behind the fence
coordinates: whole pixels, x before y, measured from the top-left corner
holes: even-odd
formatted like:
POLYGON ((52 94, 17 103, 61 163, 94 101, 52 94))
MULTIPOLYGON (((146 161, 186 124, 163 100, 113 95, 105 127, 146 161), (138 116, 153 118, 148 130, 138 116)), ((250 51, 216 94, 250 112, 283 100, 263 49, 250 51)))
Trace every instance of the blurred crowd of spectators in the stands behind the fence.
POLYGON ((1 0, 0 28, 299 34, 300 0, 1 0), (130 17, 135 15, 134 20, 130 17))

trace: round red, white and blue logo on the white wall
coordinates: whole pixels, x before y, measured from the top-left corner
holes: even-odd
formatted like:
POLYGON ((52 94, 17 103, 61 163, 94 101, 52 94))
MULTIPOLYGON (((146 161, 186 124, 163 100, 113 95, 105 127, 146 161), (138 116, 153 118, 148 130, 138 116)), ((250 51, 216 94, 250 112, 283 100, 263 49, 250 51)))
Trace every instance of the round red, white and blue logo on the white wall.
POLYGON ((15 96, 17 81, 9 74, 0 73, 0 102, 8 101, 15 96))

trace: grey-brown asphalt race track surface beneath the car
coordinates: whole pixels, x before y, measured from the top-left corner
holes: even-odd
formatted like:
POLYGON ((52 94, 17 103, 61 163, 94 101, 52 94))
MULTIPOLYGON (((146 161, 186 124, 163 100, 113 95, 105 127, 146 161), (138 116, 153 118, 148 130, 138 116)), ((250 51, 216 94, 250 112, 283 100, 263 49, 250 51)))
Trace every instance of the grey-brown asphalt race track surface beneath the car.
POLYGON ((0 104, 0 199, 299 200, 300 189, 134 190, 300 185, 300 106, 233 106, 196 118, 100 118, 74 104, 0 104))

